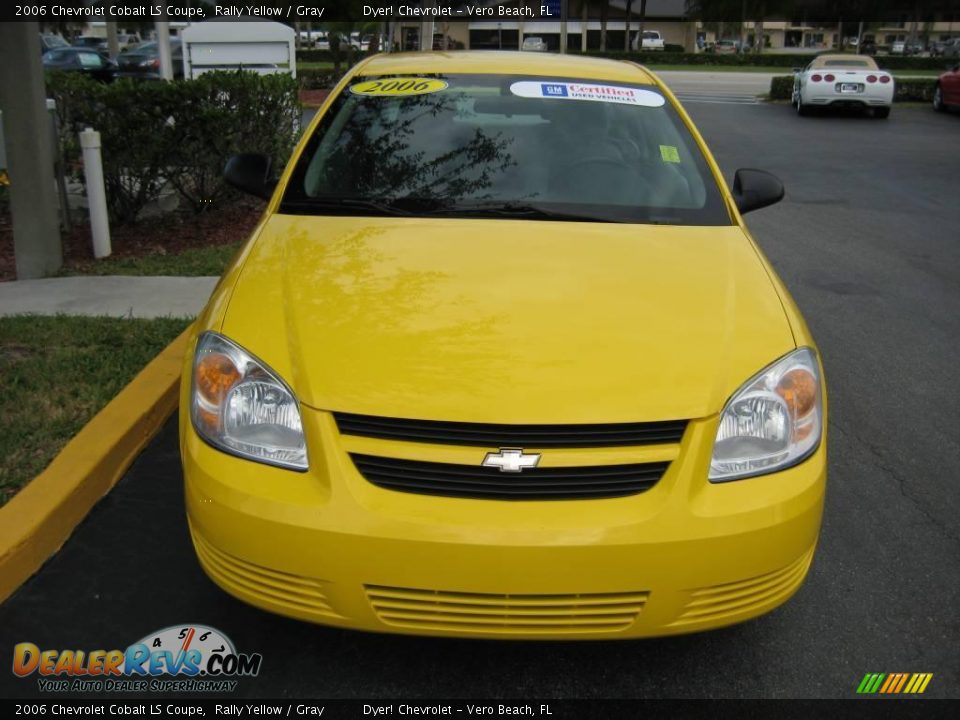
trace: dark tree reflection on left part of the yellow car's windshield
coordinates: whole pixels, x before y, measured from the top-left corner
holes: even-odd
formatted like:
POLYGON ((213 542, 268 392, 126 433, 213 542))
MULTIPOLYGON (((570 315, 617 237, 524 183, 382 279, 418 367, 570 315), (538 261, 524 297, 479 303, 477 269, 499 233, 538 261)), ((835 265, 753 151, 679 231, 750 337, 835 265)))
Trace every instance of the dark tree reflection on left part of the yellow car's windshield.
POLYGON ((324 190, 336 192, 349 177, 350 191, 367 198, 426 198, 444 206, 467 196, 480 199, 477 193, 489 188, 496 174, 516 164, 507 152, 509 137, 476 128, 468 141, 432 157, 429 150, 412 149, 429 148, 430 138, 416 129, 418 121, 441 113, 452 117, 454 97, 435 93, 359 100, 325 163, 324 190), (394 114, 394 120, 387 119, 394 114))

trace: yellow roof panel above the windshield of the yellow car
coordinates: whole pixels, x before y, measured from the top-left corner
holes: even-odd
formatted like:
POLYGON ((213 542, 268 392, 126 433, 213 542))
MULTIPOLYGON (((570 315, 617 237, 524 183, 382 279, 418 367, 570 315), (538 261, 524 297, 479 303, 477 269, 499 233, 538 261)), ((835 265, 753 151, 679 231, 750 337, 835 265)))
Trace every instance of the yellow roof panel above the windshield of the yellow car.
POLYGON ((438 72, 491 75, 548 75, 590 80, 655 84, 639 65, 579 55, 520 54, 516 51, 474 50, 409 52, 374 55, 357 66, 357 75, 410 75, 438 72))

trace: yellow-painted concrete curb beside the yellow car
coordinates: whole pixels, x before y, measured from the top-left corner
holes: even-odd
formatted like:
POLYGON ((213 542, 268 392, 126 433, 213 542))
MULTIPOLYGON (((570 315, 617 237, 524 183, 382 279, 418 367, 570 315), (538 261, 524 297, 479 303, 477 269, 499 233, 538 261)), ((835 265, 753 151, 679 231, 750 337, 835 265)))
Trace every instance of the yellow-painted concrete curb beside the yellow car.
POLYGON ((177 407, 187 328, 0 508, 0 602, 70 537, 177 407))

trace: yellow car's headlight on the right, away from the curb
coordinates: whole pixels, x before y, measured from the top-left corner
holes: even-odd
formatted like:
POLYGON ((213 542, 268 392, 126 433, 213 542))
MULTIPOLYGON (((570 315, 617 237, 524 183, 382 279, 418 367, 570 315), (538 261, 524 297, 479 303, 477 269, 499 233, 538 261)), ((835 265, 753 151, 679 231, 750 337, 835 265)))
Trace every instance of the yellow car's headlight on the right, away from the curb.
POLYGON ((710 459, 710 481, 763 475, 796 465, 820 444, 823 389, 810 348, 750 378, 727 401, 710 459))

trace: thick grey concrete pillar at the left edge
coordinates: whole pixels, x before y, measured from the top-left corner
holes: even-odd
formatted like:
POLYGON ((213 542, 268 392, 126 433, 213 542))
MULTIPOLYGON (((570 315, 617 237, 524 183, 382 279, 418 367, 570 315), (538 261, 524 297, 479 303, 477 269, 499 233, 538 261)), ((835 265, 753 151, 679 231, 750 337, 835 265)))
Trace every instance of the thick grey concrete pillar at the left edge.
POLYGON ((0 23, 0 108, 20 280, 52 275, 63 265, 39 32, 35 22, 0 23))

